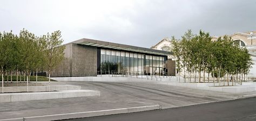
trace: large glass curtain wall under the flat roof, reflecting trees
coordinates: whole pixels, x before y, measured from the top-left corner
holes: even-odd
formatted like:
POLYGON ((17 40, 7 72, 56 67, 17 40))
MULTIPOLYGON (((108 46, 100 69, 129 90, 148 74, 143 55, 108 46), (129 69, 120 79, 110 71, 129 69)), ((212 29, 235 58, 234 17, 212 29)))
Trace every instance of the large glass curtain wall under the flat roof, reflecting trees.
POLYGON ((166 56, 100 49, 100 72, 101 74, 163 75, 164 58, 166 56))

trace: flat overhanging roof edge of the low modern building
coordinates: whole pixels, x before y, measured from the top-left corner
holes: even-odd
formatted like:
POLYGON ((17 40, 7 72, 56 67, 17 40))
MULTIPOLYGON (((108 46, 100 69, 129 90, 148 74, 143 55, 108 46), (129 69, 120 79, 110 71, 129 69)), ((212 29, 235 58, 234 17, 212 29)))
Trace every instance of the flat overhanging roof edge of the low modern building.
MULTIPOLYGON (((118 49, 123 51, 132 51, 132 52, 139 52, 139 53, 148 53, 148 54, 156 54, 156 55, 172 55, 172 52, 168 51, 160 51, 157 49, 150 49, 150 48, 144 48, 144 47, 137 47, 137 46, 131 46, 131 45, 123 45, 123 44, 117 44, 113 42, 107 42, 107 41, 100 41, 100 40, 93 40, 93 39, 79 39, 73 42, 70 42, 73 44, 79 44, 79 45, 87 45, 87 46, 95 46, 95 47, 104 47, 104 48, 111 48, 111 49, 118 49)), ((69 43, 69 44, 70 44, 69 43)))

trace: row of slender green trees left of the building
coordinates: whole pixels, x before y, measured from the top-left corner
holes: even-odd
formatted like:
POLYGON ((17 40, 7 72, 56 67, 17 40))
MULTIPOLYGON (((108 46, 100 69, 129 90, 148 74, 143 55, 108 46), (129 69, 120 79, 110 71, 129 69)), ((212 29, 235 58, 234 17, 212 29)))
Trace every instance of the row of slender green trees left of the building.
MULTIPOLYGON (((49 85, 51 70, 64 58, 65 46, 62 46, 60 31, 37 37, 23 29, 19 35, 11 32, 0 32, 0 70, 2 75, 2 92, 4 75, 16 75, 16 82, 23 81, 28 87, 30 75, 38 70, 48 70, 49 85), (19 76, 19 77, 18 77, 19 76)), ((28 90, 28 88, 27 88, 28 90)))

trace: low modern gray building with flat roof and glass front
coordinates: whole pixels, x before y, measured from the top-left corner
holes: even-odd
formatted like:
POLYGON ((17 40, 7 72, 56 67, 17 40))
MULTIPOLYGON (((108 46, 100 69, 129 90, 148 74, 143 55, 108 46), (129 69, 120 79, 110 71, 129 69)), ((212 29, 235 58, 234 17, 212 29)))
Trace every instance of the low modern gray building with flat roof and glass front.
POLYGON ((172 52, 79 39, 64 45, 64 60, 53 69, 52 77, 117 75, 175 75, 172 52))

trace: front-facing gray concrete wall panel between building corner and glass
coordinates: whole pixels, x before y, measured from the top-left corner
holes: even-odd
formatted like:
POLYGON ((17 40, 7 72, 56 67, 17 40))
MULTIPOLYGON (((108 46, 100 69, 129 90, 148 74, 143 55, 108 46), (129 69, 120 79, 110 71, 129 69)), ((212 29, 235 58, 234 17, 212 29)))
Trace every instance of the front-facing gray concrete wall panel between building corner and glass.
POLYGON ((97 47, 73 44, 72 76, 97 76, 97 47))

